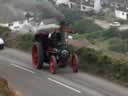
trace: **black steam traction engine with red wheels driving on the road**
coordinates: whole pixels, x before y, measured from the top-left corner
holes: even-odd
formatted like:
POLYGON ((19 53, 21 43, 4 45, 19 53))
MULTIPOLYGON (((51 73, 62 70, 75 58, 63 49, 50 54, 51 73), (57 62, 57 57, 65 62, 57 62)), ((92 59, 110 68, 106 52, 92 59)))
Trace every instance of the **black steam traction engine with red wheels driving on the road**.
POLYGON ((55 74, 58 68, 65 68, 68 63, 74 73, 78 72, 78 57, 71 53, 66 43, 64 23, 38 30, 32 45, 32 63, 41 69, 44 62, 49 64, 49 71, 55 74))

